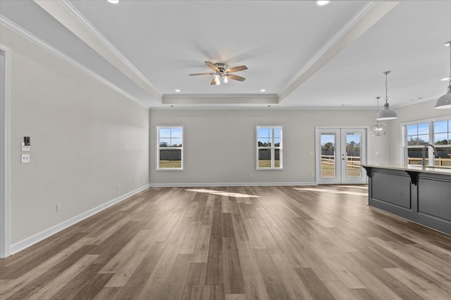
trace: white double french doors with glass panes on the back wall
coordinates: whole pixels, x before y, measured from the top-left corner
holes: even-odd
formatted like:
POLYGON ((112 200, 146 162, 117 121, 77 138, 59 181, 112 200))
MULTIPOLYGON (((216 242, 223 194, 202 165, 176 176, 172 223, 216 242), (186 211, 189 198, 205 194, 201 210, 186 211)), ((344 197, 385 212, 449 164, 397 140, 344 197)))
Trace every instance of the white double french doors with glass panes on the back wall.
POLYGON ((319 184, 366 183, 365 128, 316 127, 316 182, 319 184))

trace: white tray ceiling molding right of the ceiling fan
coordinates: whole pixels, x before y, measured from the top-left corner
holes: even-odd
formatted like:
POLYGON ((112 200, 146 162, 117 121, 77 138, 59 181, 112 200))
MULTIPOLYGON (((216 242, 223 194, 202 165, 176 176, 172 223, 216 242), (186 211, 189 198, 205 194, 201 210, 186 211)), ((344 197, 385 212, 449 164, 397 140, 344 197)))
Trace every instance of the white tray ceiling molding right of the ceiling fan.
POLYGON ((398 1, 371 1, 361 11, 345 24, 335 36, 321 48, 309 62, 293 77, 279 95, 279 103, 290 96, 310 77, 335 58, 344 48, 350 46, 356 39, 369 30, 378 20, 389 13, 398 1))

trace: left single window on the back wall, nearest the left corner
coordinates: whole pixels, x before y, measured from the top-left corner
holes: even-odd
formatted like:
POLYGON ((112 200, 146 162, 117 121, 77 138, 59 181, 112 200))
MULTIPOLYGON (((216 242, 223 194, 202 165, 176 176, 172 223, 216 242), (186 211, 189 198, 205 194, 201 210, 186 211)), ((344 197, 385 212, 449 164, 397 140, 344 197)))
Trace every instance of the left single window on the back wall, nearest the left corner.
POLYGON ((156 144, 157 170, 183 170, 183 126, 157 126, 156 144))

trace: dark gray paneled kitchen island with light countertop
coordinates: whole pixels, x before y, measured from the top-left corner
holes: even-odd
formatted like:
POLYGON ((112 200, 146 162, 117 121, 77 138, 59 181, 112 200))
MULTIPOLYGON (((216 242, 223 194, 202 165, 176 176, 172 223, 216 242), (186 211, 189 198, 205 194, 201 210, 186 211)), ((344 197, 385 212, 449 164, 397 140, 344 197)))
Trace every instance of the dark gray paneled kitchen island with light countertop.
POLYGON ((368 204, 451 235, 451 169, 362 165, 368 204))

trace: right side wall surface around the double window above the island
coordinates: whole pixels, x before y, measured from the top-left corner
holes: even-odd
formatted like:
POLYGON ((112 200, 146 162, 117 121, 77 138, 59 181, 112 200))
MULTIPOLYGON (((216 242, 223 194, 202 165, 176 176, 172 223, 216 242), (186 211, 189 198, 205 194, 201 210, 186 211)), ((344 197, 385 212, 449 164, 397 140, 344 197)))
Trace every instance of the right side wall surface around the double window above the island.
MULTIPOLYGON (((443 91, 445 93, 445 91, 443 91)), ((388 130, 390 131, 390 163, 404 164, 402 149, 402 122, 412 122, 421 119, 432 119, 435 117, 451 117, 451 110, 436 110, 434 108, 437 100, 428 100, 414 105, 397 107, 398 118, 390 120, 388 130)))

